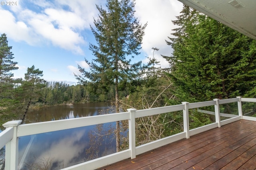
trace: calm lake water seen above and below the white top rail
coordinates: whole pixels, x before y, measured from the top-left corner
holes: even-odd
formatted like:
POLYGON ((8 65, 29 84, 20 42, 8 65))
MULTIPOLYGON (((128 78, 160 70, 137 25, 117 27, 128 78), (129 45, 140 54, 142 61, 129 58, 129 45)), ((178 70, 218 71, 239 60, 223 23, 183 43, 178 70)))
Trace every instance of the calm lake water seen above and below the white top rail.
MULTIPOLYGON (((93 116, 112 111, 110 103, 106 102, 43 107, 28 113, 26 123, 93 116)), ((112 154, 116 152, 113 133, 108 136, 96 134, 103 134, 102 131, 114 129, 115 126, 113 122, 97 127, 95 125, 20 137, 19 168, 58 170, 112 154), (92 146, 92 152, 86 153, 92 146)))

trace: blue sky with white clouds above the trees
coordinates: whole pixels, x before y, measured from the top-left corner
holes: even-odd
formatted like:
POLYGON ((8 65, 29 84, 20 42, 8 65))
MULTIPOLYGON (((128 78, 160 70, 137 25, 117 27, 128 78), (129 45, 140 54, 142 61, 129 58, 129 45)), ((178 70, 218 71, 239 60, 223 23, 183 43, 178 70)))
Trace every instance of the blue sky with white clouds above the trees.
MULTIPOLYGON (((18 70, 14 78, 24 78, 32 65, 42 70, 44 80, 76 84, 78 64, 89 70, 94 59, 89 43, 95 44, 90 25, 98 17, 97 5, 105 6, 106 0, 15 0, 0 5, 0 34, 5 33, 12 46, 13 61, 18 70)), ((140 23, 148 23, 142 41, 141 54, 133 62, 147 63, 146 57, 160 61, 162 68, 168 62, 161 55, 170 56, 172 49, 165 40, 171 36, 175 25, 172 20, 180 15, 182 3, 178 0, 136 0, 135 16, 140 23)))

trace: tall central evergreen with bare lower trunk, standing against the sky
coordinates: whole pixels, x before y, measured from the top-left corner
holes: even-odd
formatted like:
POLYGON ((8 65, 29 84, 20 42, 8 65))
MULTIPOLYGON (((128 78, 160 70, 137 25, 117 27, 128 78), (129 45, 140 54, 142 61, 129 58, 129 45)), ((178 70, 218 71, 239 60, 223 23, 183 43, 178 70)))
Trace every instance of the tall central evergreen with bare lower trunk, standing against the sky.
MULTIPOLYGON (((135 18, 134 5, 134 0, 107 0, 106 10, 96 5, 99 15, 98 19, 94 19, 95 28, 91 26, 91 30, 97 45, 90 44, 96 59, 92 63, 86 60, 90 66, 89 72, 78 65, 85 78, 100 82, 99 88, 106 92, 110 90, 109 85, 115 85, 116 112, 119 112, 118 83, 134 77, 141 66, 141 62, 132 64, 128 59, 139 54, 146 27, 135 18)), ((76 76, 80 82, 85 80, 84 77, 76 76)), ((116 122, 116 131, 116 148, 119 151, 119 122, 116 122)))

